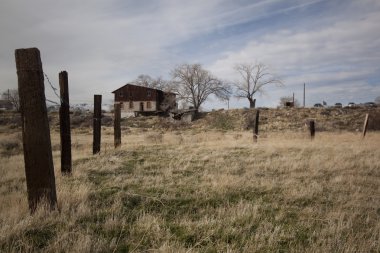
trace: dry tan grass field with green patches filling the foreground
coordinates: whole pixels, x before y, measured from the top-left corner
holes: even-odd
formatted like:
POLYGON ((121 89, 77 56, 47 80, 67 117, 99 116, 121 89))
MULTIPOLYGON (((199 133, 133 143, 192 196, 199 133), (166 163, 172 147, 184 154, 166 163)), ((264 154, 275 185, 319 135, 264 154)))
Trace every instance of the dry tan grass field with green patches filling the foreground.
POLYGON ((58 210, 29 214, 21 137, 0 128, 1 252, 379 252, 380 133, 72 131, 58 210))

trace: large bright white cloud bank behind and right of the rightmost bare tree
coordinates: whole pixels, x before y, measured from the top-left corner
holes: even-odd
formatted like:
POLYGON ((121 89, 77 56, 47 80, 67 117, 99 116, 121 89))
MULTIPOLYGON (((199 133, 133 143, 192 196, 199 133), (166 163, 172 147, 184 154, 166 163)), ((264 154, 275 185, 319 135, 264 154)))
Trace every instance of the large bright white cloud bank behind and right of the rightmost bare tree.
MULTIPOLYGON (((234 79, 236 63, 260 61, 282 77, 288 86, 285 92, 290 93, 292 87, 306 82, 320 87, 311 90, 318 98, 341 97, 357 90, 365 90, 368 98, 379 90, 367 82, 379 71, 379 24, 378 11, 366 13, 365 18, 339 19, 310 31, 288 28, 268 32, 261 38, 252 39, 243 48, 225 52, 210 69, 218 76, 234 79), (352 82, 355 85, 350 86, 352 82)), ((279 96, 274 92, 269 103, 273 105, 279 96)), ((366 98, 361 94, 361 99, 366 98)))

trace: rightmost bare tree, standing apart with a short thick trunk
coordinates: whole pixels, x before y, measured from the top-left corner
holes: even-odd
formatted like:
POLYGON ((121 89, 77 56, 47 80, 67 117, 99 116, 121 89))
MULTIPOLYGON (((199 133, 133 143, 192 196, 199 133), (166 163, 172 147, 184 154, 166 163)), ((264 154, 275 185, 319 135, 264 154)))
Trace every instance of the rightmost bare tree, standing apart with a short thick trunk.
POLYGON ((250 108, 255 108, 256 99, 254 95, 257 92, 262 92, 264 86, 268 84, 282 85, 282 81, 269 73, 268 67, 263 63, 240 63, 235 66, 235 70, 240 77, 234 83, 236 96, 238 98, 247 98, 250 108))

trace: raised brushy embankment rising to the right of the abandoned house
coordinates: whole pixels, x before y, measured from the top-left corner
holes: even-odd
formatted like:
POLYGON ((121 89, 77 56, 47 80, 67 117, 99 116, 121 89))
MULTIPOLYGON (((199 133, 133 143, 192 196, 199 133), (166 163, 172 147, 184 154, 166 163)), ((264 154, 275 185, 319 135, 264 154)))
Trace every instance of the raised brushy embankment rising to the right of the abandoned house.
MULTIPOLYGON (((261 131, 297 131, 314 120, 318 131, 360 131, 369 113, 369 129, 380 130, 380 108, 283 108, 260 110, 261 131)), ((255 109, 219 110, 193 123, 201 128, 244 130, 252 128, 255 109)))

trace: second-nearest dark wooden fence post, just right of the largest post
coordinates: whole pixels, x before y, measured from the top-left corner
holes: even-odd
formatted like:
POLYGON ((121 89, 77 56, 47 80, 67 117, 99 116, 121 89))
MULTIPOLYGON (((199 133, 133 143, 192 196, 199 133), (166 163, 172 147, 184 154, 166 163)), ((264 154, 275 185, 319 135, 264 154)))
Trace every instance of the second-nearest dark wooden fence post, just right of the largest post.
POLYGON ((61 172, 71 174, 71 134, 70 134, 70 102, 67 72, 59 73, 61 107, 59 108, 59 125, 61 132, 61 172))

